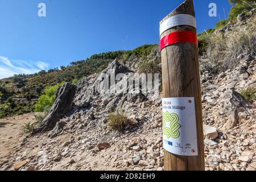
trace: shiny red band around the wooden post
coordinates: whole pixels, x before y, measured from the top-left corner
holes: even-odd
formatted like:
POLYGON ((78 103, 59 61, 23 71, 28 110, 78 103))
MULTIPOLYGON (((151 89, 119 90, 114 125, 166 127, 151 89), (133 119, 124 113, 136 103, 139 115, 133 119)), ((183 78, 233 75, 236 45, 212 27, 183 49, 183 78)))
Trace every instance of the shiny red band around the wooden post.
POLYGON ((161 51, 163 48, 176 43, 192 43, 197 46, 197 35, 192 31, 177 31, 164 36, 160 41, 161 51))

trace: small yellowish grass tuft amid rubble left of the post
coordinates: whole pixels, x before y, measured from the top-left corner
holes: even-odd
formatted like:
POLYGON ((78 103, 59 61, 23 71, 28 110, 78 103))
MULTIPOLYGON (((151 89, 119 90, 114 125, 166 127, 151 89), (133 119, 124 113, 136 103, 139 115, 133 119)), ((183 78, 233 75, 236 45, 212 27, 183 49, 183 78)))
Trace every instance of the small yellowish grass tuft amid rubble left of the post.
POLYGON ((108 125, 112 127, 112 129, 122 132, 128 121, 126 113, 123 110, 118 109, 117 111, 109 114, 108 125))

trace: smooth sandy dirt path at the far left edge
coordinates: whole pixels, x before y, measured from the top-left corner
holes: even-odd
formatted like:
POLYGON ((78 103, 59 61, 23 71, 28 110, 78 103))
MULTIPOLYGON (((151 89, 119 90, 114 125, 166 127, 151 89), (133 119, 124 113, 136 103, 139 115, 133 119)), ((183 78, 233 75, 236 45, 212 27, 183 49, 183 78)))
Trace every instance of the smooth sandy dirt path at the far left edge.
POLYGON ((0 159, 14 152, 20 146, 27 135, 23 132, 23 126, 27 122, 35 122, 34 114, 0 119, 0 159))

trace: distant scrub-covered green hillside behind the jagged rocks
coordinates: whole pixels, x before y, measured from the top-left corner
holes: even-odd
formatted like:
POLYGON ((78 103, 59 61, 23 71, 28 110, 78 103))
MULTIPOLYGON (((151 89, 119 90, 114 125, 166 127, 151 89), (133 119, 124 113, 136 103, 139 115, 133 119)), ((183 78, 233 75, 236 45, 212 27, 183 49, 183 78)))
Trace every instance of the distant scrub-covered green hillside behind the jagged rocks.
POLYGON ((61 82, 76 84, 83 78, 102 72, 113 60, 125 62, 150 55, 158 45, 144 45, 132 51, 114 51, 92 55, 86 60, 74 61, 67 67, 40 71, 34 75, 16 75, 0 80, 0 118, 34 111, 35 103, 47 86, 61 82))

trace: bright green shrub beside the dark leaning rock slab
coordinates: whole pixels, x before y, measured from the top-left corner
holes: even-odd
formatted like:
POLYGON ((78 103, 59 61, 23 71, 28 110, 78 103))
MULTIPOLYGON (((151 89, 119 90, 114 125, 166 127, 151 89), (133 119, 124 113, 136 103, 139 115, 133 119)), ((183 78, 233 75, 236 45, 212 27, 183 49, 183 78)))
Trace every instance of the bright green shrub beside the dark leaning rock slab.
POLYGON ((38 103, 35 105, 35 112, 47 112, 49 108, 51 108, 55 101, 56 90, 61 85, 63 85, 63 83, 55 86, 47 86, 44 90, 44 94, 39 97, 38 103))

